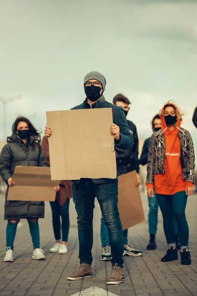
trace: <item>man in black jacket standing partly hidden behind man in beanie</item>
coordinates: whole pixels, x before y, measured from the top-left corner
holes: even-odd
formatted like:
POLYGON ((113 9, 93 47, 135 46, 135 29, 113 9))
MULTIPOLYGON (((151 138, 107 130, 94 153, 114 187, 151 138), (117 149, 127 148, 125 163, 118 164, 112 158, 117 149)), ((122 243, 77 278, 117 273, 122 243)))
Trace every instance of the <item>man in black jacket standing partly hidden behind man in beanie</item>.
MULTIPOLYGON (((117 94, 113 99, 113 104, 115 106, 122 107, 125 115, 127 116, 128 111, 130 110, 131 102, 127 97, 122 94, 117 94)), ((130 120, 127 120, 127 123, 130 128, 131 135, 133 136, 133 146, 130 149, 123 149, 116 147, 116 163, 117 163, 117 174, 118 176, 127 174, 132 171, 136 171, 136 187, 141 183, 139 176, 139 160, 138 160, 138 136, 137 129, 134 123, 130 120)), ((131 245, 128 244, 128 229, 123 231, 124 234, 124 256, 142 256, 142 251, 134 249, 131 245)), ((111 259, 111 249, 110 241, 107 227, 105 225, 103 217, 101 218, 101 227, 100 227, 100 239, 102 250, 100 254, 100 260, 106 261, 111 259)))

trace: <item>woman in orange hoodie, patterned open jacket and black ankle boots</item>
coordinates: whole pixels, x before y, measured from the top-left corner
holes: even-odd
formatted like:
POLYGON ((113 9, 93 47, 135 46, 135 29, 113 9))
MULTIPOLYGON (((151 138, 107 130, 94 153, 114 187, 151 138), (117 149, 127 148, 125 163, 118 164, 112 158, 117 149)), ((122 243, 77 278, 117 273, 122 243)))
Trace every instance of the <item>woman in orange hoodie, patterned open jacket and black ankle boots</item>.
POLYGON ((178 259, 173 216, 177 222, 181 263, 191 264, 189 228, 185 216, 187 197, 194 193, 195 153, 190 133, 181 128, 182 114, 171 102, 160 112, 162 130, 150 140, 147 163, 147 194, 158 199, 168 245, 163 262, 178 259))

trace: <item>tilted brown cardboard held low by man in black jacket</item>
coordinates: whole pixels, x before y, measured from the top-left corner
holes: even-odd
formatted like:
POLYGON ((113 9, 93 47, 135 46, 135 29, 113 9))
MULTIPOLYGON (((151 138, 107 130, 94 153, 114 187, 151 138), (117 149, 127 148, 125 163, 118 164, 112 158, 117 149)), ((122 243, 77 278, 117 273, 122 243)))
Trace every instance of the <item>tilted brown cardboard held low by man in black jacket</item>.
POLYGON ((118 209, 123 230, 145 221, 136 171, 118 177, 118 209))

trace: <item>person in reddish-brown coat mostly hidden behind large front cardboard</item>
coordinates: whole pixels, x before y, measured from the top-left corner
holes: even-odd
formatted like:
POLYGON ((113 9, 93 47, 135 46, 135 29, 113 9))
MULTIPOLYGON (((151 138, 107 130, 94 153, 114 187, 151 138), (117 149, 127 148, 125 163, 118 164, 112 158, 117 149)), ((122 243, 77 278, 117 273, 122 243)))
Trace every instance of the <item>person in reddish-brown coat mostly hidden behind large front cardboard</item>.
MULTIPOLYGON (((49 140, 47 137, 42 139, 41 143, 44 155, 47 160, 47 165, 50 167, 49 158, 49 140)), ((72 198, 72 182, 61 181, 57 187, 55 201, 50 201, 52 219, 53 219, 53 231, 56 239, 56 243, 50 249, 51 253, 67 254, 67 240, 69 232, 69 201, 72 198), (61 222, 62 218, 62 244, 61 241, 61 222)))

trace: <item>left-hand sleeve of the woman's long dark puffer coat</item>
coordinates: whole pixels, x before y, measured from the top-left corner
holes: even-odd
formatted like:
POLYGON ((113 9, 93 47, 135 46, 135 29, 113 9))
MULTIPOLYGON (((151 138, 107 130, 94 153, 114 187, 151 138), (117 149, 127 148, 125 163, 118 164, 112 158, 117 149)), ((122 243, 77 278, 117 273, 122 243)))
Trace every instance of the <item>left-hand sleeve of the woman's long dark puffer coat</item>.
POLYGON ((0 176, 5 183, 12 177, 11 173, 12 154, 7 145, 2 148, 0 153, 0 176))

